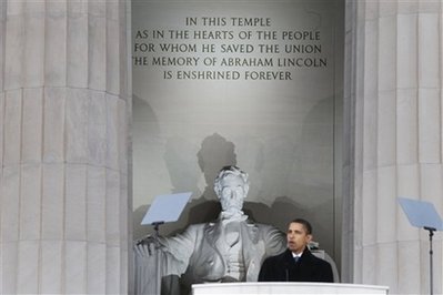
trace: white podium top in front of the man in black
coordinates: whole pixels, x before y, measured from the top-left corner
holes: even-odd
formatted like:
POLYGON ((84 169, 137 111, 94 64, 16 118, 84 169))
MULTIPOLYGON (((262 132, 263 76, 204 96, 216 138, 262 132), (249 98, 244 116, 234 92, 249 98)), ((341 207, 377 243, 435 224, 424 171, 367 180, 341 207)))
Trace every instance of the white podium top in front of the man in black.
POLYGON ((389 287, 339 283, 211 283, 192 285, 193 295, 387 294, 389 287))

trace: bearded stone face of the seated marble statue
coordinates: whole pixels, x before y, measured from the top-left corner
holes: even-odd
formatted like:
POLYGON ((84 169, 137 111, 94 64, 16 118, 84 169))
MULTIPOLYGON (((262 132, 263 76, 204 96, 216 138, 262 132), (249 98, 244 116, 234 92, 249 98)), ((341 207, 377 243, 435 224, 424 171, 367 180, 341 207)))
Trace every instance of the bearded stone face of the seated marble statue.
POLYGON ((221 181, 220 203, 223 211, 236 212, 243 207, 244 182, 241 176, 226 175, 221 181))

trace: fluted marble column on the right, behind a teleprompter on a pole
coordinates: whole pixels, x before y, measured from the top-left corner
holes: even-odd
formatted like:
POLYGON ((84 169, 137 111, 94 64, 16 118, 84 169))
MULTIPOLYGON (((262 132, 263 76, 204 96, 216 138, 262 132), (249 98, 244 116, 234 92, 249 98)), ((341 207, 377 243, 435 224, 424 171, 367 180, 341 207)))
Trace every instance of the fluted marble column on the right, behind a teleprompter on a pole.
MULTIPOLYGON (((429 233, 397 196, 443 214, 442 1, 346 1, 353 143, 353 282, 429 294, 429 233)), ((442 236, 434 236, 442 294, 442 236)))

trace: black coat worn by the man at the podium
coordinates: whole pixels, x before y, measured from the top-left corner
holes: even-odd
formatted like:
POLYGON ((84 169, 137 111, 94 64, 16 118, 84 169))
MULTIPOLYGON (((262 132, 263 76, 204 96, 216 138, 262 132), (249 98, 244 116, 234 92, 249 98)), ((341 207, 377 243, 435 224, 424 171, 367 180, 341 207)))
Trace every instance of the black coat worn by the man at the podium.
POLYGON ((323 282, 333 283, 331 265, 308 248, 295 263, 290 250, 266 258, 260 269, 259 282, 323 282))

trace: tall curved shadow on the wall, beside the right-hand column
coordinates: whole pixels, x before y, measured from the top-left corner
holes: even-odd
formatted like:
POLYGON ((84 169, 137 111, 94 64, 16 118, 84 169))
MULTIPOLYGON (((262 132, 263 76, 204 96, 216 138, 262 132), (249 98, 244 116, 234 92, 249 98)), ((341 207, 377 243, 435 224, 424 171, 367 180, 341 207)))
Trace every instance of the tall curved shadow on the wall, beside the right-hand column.
POLYGON ((305 192, 303 207, 310 211, 306 218, 312 221, 314 228, 314 238, 321 238, 320 246, 332 255, 340 267, 340 231, 336 231, 339 218, 341 216, 336 208, 340 208, 340 194, 336 195, 340 175, 334 175, 335 159, 334 136, 335 128, 335 96, 325 96, 318 101, 315 105, 306 113, 303 121, 302 133, 300 136, 300 153, 296 163, 298 170, 293 170, 299 180, 296 186, 305 192), (339 250, 339 251, 336 251, 339 250))

